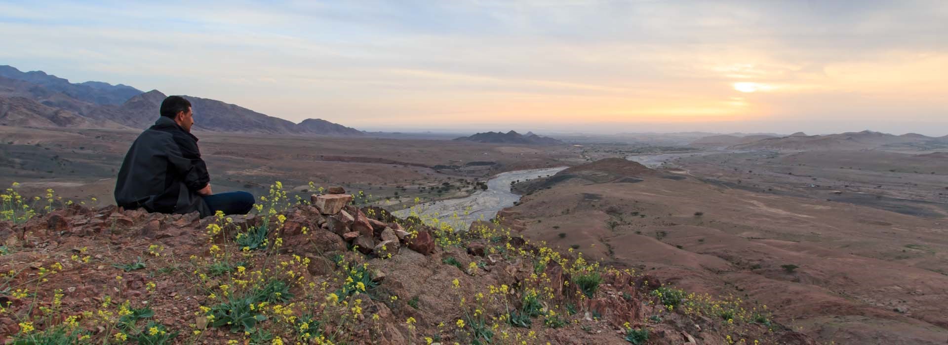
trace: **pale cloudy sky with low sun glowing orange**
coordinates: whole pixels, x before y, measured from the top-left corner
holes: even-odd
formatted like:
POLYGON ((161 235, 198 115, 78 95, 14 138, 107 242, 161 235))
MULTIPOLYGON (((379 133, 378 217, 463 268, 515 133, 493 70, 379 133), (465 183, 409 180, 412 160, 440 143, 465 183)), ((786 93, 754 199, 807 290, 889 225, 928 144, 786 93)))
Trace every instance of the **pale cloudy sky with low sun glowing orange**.
POLYGON ((364 130, 948 134, 948 1, 4 1, 0 64, 364 130))

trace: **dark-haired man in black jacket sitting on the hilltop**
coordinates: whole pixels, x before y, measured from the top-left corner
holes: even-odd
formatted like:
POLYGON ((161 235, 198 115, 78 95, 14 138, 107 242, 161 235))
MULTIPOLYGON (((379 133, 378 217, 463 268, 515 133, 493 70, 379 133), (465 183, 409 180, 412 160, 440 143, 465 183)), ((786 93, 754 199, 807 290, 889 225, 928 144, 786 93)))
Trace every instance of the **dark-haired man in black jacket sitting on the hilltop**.
POLYGON ((189 214, 202 217, 217 211, 246 215, 253 195, 246 192, 212 194, 208 167, 201 159, 191 102, 171 95, 161 102, 161 116, 145 129, 125 154, 116 181, 116 204, 125 209, 189 214))

